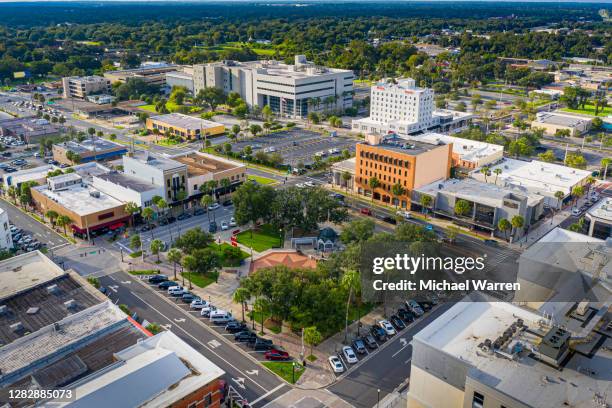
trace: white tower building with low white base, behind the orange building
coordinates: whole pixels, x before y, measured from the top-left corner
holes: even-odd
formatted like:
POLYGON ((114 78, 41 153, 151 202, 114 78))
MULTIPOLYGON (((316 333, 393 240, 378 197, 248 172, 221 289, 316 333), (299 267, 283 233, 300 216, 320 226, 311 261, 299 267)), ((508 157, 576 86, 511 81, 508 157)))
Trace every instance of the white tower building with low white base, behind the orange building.
POLYGON ((416 86, 412 78, 381 81, 371 88, 370 116, 355 119, 352 129, 365 134, 412 135, 428 130, 457 132, 471 122, 465 112, 436 109, 434 92, 416 86))

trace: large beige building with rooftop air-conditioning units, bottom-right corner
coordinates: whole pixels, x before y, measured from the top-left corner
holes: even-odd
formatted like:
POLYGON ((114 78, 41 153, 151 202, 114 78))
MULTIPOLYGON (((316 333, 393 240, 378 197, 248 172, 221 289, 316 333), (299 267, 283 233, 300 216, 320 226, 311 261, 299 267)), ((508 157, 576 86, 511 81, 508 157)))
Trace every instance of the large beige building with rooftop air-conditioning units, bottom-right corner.
POLYGON ((408 408, 605 406, 609 339, 573 341, 583 322, 559 317, 563 328, 510 303, 455 304, 413 337, 408 408))

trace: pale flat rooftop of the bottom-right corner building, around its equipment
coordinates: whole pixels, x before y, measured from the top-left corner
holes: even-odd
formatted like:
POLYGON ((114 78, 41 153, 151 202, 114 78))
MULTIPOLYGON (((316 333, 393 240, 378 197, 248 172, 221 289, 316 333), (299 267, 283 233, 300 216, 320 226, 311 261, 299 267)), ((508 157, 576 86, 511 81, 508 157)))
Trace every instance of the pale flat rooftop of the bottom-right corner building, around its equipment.
POLYGON ((469 377, 528 406, 591 408, 596 406, 595 394, 612 394, 609 338, 591 358, 575 353, 561 371, 525 354, 512 361, 478 347, 501 336, 519 318, 530 329, 520 340, 528 345, 538 342, 540 334, 530 332, 539 331, 542 316, 502 302, 457 303, 414 339, 471 365, 469 377))

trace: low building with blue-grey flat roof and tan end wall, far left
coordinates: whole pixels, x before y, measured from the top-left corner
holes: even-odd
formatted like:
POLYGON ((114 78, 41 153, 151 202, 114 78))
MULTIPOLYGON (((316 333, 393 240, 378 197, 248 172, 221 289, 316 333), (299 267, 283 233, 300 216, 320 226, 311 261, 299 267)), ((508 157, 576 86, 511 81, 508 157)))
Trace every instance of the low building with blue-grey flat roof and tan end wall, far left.
POLYGON ((73 161, 67 156, 68 152, 78 154, 79 163, 87 163, 98 160, 112 160, 127 153, 127 147, 109 140, 95 138, 85 139, 81 142, 69 140, 56 143, 52 148, 53 160, 60 163, 72 165, 73 161))

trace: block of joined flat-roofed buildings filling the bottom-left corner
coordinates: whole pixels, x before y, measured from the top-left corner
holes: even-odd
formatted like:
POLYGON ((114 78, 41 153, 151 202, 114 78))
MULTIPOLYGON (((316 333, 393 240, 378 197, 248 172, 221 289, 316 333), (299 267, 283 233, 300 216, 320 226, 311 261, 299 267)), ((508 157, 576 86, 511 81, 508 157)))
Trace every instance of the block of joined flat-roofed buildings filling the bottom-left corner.
POLYGON ((3 407, 219 407, 225 374, 170 331, 153 335, 39 251, 0 262, 3 407), (9 399, 11 389, 69 400, 9 399))

